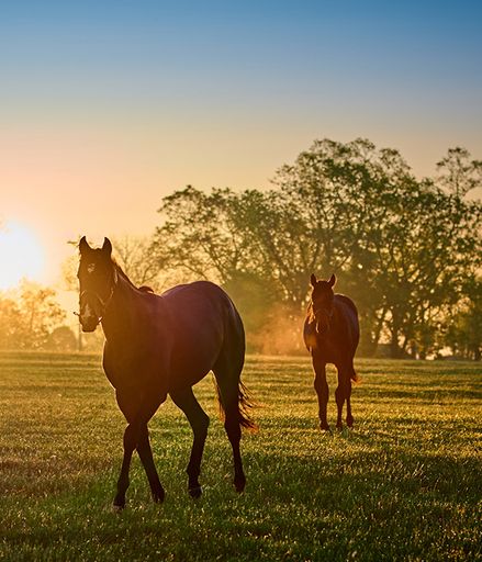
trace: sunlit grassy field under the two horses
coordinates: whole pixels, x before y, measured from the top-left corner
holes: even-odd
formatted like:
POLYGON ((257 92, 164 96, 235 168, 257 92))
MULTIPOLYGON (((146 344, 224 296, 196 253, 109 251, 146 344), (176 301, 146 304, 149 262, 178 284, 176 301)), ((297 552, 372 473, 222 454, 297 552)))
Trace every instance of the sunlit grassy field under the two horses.
POLYGON ((191 430, 168 401, 150 423, 166 502, 150 503, 135 458, 114 514, 124 422, 100 358, 0 355, 0 560, 482 560, 481 364, 357 368, 356 427, 329 436, 307 358, 248 358, 260 430, 243 439, 242 495, 211 378, 197 386, 212 418, 197 502, 191 430))

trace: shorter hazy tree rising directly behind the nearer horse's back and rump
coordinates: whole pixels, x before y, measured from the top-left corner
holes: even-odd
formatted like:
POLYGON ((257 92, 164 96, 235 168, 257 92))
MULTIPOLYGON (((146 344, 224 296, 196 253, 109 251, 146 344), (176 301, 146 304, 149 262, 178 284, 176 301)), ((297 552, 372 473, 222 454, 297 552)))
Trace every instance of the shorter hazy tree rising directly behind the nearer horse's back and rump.
POLYGON ((209 279, 220 283, 250 333, 262 331, 274 302, 284 304, 273 268, 264 268, 254 238, 254 222, 268 220, 260 217, 262 199, 255 190, 235 193, 226 188, 204 193, 188 186, 162 200, 164 223, 153 240, 162 274, 172 279, 177 272, 178 282, 209 279))

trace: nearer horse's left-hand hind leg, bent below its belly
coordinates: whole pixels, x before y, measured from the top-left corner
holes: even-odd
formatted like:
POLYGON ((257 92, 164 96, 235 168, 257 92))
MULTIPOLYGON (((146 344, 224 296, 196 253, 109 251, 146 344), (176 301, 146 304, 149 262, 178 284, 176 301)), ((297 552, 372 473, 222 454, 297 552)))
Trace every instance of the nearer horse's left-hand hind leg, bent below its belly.
POLYGON ((199 483, 199 475, 201 474, 201 459, 204 451, 210 418, 200 406, 191 387, 171 391, 170 395, 175 404, 186 414, 194 434, 191 458, 189 459, 187 469, 189 479, 188 487, 192 497, 200 497, 202 487, 199 483))

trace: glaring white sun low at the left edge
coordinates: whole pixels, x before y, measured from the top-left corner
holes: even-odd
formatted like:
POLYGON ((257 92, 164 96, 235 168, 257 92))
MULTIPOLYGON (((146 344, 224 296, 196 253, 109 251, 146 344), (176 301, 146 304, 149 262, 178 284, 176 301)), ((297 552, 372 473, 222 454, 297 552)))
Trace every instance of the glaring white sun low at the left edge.
POLYGON ((13 289, 25 278, 38 281, 44 252, 35 234, 16 222, 0 225, 0 290, 13 289))

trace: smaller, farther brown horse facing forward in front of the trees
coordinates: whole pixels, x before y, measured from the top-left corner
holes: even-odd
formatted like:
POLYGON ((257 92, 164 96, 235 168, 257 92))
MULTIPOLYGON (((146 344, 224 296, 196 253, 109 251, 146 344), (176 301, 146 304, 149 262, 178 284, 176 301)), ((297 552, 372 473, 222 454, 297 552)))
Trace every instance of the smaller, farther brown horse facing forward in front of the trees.
POLYGON ((312 274, 313 291, 303 329, 304 342, 312 355, 315 372, 314 385, 318 395, 320 427, 327 431, 329 431, 329 425, 326 418, 328 404, 326 363, 335 364, 338 370, 338 386, 335 391, 338 407, 336 427, 343 428, 341 415, 345 401, 347 426, 352 427, 351 381, 357 380, 354 356, 360 337, 357 307, 348 296, 333 292, 335 282, 335 276, 332 276, 328 281, 318 281, 312 274))

